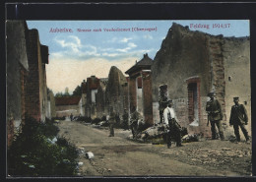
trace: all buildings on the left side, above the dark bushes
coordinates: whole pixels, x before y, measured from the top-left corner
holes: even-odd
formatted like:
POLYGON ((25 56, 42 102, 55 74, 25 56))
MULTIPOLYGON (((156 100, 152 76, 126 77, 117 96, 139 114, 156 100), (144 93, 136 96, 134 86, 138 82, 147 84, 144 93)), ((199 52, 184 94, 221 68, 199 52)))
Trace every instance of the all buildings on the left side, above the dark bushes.
POLYGON ((37 30, 29 30, 25 21, 6 22, 8 146, 26 115, 38 122, 54 115, 54 96, 46 86, 48 55, 48 46, 40 43, 37 30))

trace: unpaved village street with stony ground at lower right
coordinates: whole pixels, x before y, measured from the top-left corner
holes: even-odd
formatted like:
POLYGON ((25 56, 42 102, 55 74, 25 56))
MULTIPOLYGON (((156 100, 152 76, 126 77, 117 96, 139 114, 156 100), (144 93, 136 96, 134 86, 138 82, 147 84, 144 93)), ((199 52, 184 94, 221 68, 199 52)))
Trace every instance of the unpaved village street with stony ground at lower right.
POLYGON ((108 137, 107 127, 60 121, 63 136, 80 151, 80 176, 250 176, 251 144, 229 141, 172 145, 142 144, 128 139, 131 131, 115 129, 108 137), (88 159, 86 152, 93 152, 88 159), (83 163, 82 163, 83 162, 83 163))

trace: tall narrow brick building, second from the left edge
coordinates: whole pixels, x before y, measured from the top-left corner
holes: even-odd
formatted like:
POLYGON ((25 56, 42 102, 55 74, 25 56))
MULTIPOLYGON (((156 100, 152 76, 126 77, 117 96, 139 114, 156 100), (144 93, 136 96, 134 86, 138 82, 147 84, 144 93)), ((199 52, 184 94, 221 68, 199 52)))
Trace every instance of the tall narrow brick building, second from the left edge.
POLYGON ((30 72, 27 79, 27 112, 37 121, 45 120, 47 87, 45 64, 48 64, 48 47, 40 44, 37 30, 29 30, 27 52, 30 72))

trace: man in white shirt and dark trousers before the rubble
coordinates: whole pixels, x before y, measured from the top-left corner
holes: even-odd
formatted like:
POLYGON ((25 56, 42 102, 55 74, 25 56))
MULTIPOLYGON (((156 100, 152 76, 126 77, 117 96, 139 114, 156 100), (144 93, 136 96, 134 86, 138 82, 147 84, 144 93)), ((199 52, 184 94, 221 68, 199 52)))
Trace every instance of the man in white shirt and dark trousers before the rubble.
POLYGON ((169 131, 167 133, 167 148, 171 147, 171 136, 174 137, 176 142, 176 147, 182 147, 181 145, 181 135, 180 126, 175 119, 175 112, 172 106, 172 100, 167 101, 167 107, 163 110, 163 122, 168 125, 169 131))

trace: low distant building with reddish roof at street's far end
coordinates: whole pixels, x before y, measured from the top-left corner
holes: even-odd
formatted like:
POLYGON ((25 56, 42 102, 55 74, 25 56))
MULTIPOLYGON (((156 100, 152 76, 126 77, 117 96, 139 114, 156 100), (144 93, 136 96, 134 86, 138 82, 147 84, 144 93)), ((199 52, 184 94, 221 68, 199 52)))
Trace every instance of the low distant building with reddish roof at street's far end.
POLYGON ((69 117, 80 115, 81 96, 62 96, 55 97, 56 117, 69 117))

